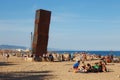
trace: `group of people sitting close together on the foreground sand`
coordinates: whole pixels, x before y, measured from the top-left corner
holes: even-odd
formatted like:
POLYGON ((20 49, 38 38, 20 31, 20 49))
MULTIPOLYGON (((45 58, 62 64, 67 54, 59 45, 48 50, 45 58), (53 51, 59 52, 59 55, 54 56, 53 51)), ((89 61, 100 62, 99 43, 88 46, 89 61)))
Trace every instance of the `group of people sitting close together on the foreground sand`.
POLYGON ((93 65, 90 63, 85 64, 84 61, 77 61, 73 65, 74 72, 107 72, 107 68, 103 61, 95 62, 93 65))

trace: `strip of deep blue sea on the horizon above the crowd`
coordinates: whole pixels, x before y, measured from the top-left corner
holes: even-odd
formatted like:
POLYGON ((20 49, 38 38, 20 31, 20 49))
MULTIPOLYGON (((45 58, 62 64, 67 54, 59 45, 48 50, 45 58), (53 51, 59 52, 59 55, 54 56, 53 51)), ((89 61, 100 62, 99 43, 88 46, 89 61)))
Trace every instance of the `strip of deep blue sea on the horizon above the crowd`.
POLYGON ((75 52, 87 52, 89 54, 98 54, 98 55, 113 55, 113 56, 120 56, 120 51, 55 51, 57 53, 70 53, 74 54, 75 52))

